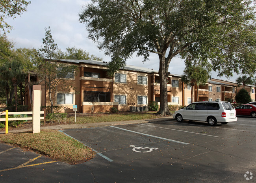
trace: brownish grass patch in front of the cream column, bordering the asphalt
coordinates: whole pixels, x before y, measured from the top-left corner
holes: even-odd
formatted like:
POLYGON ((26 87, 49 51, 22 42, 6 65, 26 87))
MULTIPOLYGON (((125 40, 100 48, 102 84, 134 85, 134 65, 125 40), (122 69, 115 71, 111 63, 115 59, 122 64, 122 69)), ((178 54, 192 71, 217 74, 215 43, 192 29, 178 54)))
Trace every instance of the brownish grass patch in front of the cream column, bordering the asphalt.
POLYGON ((41 130, 37 134, 32 132, 0 134, 0 141, 70 164, 88 161, 96 154, 79 141, 57 130, 41 130))

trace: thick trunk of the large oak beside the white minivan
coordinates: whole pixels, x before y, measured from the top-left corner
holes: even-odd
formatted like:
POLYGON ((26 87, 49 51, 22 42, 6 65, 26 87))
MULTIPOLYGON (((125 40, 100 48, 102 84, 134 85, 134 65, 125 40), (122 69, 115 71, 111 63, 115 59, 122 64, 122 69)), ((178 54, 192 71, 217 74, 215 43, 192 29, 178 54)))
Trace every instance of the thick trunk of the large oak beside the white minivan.
POLYGON ((168 108, 168 93, 167 93, 168 91, 167 81, 168 81, 169 72, 168 72, 168 65, 165 65, 165 56, 160 56, 160 68, 159 68, 158 74, 160 77, 160 109, 156 114, 161 116, 170 116, 171 112, 168 108))

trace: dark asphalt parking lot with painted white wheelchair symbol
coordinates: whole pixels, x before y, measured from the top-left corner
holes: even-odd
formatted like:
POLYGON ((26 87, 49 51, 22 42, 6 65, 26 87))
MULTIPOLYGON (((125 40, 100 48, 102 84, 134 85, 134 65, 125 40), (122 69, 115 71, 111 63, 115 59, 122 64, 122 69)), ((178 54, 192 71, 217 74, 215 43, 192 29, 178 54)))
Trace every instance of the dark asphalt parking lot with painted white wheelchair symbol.
MULTIPOLYGON (((255 182, 253 118, 240 116, 215 127, 170 120, 63 132, 98 152, 96 157, 79 165, 51 162, 2 171, 0 181, 17 180, 15 172, 28 171, 28 181, 35 181, 31 175, 41 182, 255 182)), ((0 168, 7 169, 2 163, 0 168)))

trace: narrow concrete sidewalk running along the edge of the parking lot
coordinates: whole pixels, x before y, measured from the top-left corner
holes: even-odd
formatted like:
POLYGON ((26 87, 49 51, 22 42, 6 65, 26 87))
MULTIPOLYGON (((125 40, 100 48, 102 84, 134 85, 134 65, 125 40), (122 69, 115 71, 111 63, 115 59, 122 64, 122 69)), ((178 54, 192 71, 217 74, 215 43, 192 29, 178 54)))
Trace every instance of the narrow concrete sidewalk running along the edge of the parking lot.
MULTIPOLYGON (((132 121, 113 121, 113 122, 101 122, 101 123, 85 123, 85 124, 72 124, 72 125, 56 125, 56 126, 41 126, 41 130, 66 130, 66 129, 83 129, 83 128, 95 128, 95 127, 106 127, 106 126, 116 126, 116 125, 130 125, 137 123, 148 123, 156 121, 168 121, 175 120, 173 116, 157 118, 151 120, 132 120, 132 121)), ((20 133, 20 132, 29 132, 30 129, 17 129, 9 130, 9 133, 20 133)), ((5 134, 5 131, 0 132, 0 134, 5 134)))

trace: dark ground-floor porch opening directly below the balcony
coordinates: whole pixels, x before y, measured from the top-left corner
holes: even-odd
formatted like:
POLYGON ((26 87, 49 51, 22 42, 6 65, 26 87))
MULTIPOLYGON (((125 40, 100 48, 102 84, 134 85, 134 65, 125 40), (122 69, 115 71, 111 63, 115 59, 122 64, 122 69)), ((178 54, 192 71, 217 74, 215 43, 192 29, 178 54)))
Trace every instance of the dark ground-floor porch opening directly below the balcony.
POLYGON ((111 92, 83 91, 83 101, 110 102, 111 92))

